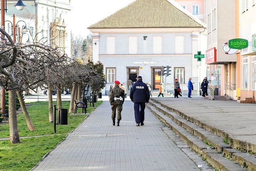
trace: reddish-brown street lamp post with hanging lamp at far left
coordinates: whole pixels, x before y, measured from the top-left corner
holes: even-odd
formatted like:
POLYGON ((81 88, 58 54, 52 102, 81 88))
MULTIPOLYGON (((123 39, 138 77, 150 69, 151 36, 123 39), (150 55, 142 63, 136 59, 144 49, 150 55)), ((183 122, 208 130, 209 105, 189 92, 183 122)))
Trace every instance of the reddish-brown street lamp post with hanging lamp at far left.
MULTIPOLYGON (((4 5, 6 4, 6 0, 1 0, 1 28, 5 30, 5 26, 4 26, 4 20, 5 20, 5 15, 4 15, 4 11, 7 11, 7 8, 5 9, 4 5)), ((15 4, 14 6, 16 6, 16 8, 18 10, 23 10, 24 6, 26 6, 25 4, 23 4, 22 0, 18 0, 17 4, 15 4), (22 7, 23 6, 23 7, 22 7)), ((16 27, 15 27, 16 28, 16 27)), ((2 41, 4 41, 4 33, 2 33, 2 41)), ((2 86, 1 87, 1 93, 0 93, 0 107, 1 112, 3 113, 3 115, 5 115, 5 89, 2 86)))

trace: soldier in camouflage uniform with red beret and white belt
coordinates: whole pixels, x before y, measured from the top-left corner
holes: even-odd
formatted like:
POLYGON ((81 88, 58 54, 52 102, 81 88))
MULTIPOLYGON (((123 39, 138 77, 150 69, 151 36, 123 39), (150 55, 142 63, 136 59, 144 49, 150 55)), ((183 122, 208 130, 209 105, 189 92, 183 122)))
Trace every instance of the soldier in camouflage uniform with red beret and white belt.
POLYGON ((117 123, 116 126, 119 126, 119 122, 122 119, 121 112, 123 110, 124 103, 124 90, 119 87, 120 82, 115 81, 113 89, 109 92, 109 103, 112 109, 112 120, 113 125, 116 121, 116 109, 117 109, 117 123))

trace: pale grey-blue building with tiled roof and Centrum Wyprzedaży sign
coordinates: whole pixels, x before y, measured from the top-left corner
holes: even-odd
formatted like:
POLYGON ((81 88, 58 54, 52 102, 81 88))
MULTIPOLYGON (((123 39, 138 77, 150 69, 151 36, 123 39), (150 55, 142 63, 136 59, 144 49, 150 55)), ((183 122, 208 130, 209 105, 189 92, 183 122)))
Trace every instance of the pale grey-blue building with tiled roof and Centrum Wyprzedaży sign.
POLYGON ((194 54, 205 52, 206 25, 176 2, 135 0, 88 28, 93 33, 93 61, 104 64, 106 94, 116 79, 127 86, 128 79, 136 81, 138 75, 151 82, 153 89, 164 82, 171 92, 174 79, 185 85, 191 77, 192 94, 199 94, 206 67, 194 54), (172 71, 165 81, 158 71, 167 65, 172 71))

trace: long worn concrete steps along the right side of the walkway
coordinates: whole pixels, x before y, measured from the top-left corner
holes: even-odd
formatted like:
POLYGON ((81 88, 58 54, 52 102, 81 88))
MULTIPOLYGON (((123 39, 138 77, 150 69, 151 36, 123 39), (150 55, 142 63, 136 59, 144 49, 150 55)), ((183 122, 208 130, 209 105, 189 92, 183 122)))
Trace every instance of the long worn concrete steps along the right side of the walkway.
MULTIPOLYGON (((163 104, 151 99, 148 108, 162 120, 173 132, 180 136, 213 167, 219 170, 256 170, 256 156, 233 149, 216 134, 190 122, 180 115, 180 111, 167 109, 163 104), (184 129, 185 128, 185 129, 184 129), (212 148, 212 149, 211 149, 212 148), (214 149, 214 150, 213 150, 214 149), (229 160, 229 159, 231 159, 229 160), (239 166, 236 163, 239 163, 239 166)), ((185 114, 183 114, 185 115, 185 114)), ((214 129, 212 129, 214 130, 214 129)), ((229 140, 230 143, 230 140, 229 140)))

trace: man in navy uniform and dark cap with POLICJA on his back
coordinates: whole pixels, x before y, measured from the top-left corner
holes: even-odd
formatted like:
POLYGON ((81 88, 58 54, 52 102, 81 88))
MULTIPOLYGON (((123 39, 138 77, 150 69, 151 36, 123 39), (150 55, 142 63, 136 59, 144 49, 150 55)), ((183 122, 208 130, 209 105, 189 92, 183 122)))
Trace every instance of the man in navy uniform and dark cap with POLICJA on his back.
POLYGON ((134 103, 135 122, 137 124, 136 126, 142 126, 144 125, 144 110, 150 98, 148 86, 146 83, 142 82, 142 76, 138 76, 137 82, 132 85, 130 98, 134 103))

